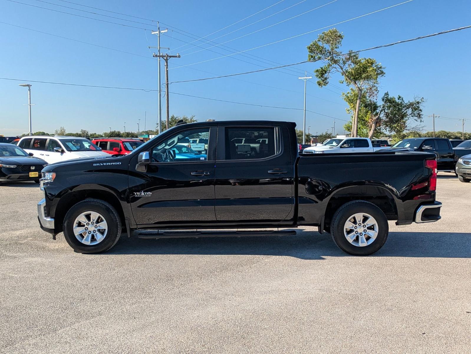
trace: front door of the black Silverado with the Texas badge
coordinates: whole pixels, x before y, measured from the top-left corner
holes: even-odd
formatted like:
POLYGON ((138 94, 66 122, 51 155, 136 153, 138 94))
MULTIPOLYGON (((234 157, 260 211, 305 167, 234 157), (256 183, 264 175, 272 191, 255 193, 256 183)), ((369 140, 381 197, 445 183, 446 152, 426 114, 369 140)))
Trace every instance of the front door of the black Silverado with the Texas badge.
MULTIPOLYGON (((174 130, 174 132, 176 132, 174 130)), ((153 156, 146 172, 130 162, 130 203, 138 225, 199 225, 216 220, 214 214, 214 158, 217 128, 176 132, 149 147, 153 156), (179 141, 204 137, 210 152, 201 154, 179 141), (169 152, 169 151, 172 152, 169 152), (169 156, 169 154, 171 156, 169 156)))

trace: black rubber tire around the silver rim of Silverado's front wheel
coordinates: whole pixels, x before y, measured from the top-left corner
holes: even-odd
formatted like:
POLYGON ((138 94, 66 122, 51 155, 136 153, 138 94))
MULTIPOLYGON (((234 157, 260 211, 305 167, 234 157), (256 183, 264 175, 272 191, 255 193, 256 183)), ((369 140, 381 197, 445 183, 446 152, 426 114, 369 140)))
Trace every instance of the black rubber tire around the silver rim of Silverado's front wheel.
POLYGON ((65 214, 64 236, 65 240, 74 251, 79 253, 100 253, 113 247, 121 236, 122 224, 116 209, 111 204, 100 199, 85 199, 78 202, 65 214), (96 212, 103 216, 107 224, 107 231, 104 239, 96 245, 86 245, 79 241, 74 233, 73 227, 75 219, 82 213, 88 211, 96 212))

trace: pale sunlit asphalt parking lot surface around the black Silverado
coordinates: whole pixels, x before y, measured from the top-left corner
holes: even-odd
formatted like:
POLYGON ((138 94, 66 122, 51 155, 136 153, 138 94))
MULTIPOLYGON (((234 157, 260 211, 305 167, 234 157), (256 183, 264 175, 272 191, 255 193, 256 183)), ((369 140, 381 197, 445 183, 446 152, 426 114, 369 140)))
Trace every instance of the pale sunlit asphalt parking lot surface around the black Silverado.
POLYGON ((295 237, 128 239, 74 253, 30 182, 0 186, 2 353, 464 353, 471 184, 439 173, 442 220, 354 257, 295 237))

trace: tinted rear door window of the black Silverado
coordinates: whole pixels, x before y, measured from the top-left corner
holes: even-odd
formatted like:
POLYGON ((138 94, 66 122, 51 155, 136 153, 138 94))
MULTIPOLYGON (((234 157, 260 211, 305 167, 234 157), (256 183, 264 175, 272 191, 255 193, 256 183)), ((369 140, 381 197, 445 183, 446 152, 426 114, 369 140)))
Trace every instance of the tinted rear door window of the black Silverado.
POLYGON ((226 128, 226 160, 260 159, 276 154, 275 128, 226 128))

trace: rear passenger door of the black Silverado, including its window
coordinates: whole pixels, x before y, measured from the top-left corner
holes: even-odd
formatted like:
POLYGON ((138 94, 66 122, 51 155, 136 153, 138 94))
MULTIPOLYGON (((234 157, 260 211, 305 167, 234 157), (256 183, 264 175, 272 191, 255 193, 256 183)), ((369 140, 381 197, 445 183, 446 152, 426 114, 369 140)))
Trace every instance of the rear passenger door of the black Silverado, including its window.
POLYGON ((215 179, 218 222, 292 219, 293 178, 286 128, 219 128, 215 179), (280 134, 281 129, 286 132, 280 134), (245 139, 244 143, 240 143, 240 138, 245 139), (268 144, 265 140, 259 146, 253 143, 262 138, 268 139, 268 144))

